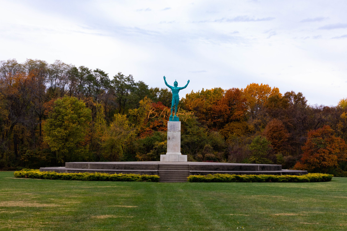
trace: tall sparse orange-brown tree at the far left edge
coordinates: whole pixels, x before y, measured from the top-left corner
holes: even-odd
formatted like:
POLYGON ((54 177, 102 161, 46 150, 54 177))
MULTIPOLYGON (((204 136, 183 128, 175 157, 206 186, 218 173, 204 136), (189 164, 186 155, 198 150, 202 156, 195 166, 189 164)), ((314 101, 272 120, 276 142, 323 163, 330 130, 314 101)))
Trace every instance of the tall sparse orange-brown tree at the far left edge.
POLYGON ((5 108, 8 111, 3 142, 13 144, 12 150, 15 160, 18 161, 21 147, 31 146, 35 143, 37 123, 33 102, 39 82, 34 72, 26 73, 23 65, 16 63, 15 60, 2 62, 1 70, 0 89, 7 102, 5 108))

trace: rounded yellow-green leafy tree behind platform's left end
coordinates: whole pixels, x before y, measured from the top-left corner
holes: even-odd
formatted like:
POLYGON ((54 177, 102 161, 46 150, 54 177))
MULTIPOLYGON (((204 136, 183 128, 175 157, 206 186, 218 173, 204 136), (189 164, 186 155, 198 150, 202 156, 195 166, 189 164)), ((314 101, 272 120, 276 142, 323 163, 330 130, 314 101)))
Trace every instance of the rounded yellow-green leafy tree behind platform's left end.
POLYGON ((43 128, 44 141, 55 154, 56 162, 88 159, 88 144, 84 138, 91 119, 91 110, 82 100, 64 97, 54 101, 43 128))

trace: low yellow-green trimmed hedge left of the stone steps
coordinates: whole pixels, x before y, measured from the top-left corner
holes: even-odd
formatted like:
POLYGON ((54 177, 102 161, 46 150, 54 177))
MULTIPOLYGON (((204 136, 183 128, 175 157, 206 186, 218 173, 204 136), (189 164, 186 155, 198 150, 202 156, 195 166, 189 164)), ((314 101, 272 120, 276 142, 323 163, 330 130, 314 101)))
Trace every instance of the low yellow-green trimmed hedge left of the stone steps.
POLYGON ((158 175, 140 174, 107 174, 99 172, 83 173, 58 173, 54 171, 43 171, 39 169, 22 169, 14 172, 17 178, 49 179, 49 180, 90 180, 90 181, 147 181, 158 182, 158 175))

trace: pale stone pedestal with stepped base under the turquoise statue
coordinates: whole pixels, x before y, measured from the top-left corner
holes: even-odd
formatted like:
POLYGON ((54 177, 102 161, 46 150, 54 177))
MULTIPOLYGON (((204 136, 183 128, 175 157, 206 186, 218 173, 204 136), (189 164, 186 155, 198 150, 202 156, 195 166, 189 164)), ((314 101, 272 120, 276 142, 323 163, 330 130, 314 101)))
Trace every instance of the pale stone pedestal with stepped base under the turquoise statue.
POLYGON ((160 155, 160 161, 187 162, 187 155, 181 154, 180 121, 168 121, 168 149, 166 155, 160 155))

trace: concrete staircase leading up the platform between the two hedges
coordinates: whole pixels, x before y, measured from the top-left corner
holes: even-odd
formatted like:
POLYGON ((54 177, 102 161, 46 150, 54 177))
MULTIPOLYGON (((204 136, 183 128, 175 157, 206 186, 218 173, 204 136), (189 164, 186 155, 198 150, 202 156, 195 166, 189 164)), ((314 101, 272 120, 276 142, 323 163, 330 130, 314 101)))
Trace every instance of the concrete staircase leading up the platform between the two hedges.
POLYGON ((189 165, 158 165, 159 182, 187 182, 189 165))

